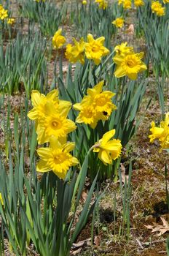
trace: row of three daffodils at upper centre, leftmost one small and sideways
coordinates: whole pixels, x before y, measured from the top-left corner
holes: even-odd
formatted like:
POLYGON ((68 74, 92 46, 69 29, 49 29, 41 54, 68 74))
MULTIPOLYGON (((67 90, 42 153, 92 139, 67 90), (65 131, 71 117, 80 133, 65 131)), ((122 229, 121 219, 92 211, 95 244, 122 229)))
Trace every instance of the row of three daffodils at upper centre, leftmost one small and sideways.
MULTIPOLYGON (((66 58, 71 61, 71 63, 76 63, 79 61, 84 64, 85 57, 87 59, 92 59, 96 65, 101 63, 101 58, 109 54, 109 49, 104 47, 104 37, 99 37, 97 39, 93 38, 92 34, 87 35, 87 42, 81 38, 79 42, 73 39, 74 44, 66 45, 66 58)), ((62 29, 55 32, 52 38, 53 48, 59 49, 66 42, 66 38, 62 35, 62 29)))

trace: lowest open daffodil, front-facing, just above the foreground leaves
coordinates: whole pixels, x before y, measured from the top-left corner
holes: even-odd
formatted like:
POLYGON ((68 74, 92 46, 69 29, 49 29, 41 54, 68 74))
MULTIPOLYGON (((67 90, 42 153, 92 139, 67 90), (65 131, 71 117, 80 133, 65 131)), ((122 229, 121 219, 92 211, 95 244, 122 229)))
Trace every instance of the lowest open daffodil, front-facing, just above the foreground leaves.
POLYGON ((52 170, 59 178, 65 178, 68 169, 71 166, 77 165, 78 159, 70 154, 74 149, 74 143, 60 144, 55 137, 50 138, 49 148, 39 148, 37 153, 41 158, 36 167, 36 170, 41 173, 46 173, 52 170))

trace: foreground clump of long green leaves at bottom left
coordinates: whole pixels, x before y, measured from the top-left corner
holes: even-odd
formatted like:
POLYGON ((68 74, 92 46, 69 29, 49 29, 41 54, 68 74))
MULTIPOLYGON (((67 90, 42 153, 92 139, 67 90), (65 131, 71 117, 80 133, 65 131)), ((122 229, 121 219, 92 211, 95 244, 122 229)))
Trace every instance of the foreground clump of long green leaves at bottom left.
MULTIPOLYGON (((27 102, 25 108, 26 105, 27 102)), ((87 175, 90 151, 79 174, 76 174, 75 169, 71 169, 65 181, 57 178, 52 172, 44 174, 39 179, 34 154, 35 129, 32 124, 26 125, 23 110, 20 113, 20 124, 18 120, 18 114, 15 114, 15 140, 13 143, 11 139, 8 141, 9 172, 2 159, 0 160, 0 192, 3 200, 3 205, 0 203, 0 214, 9 244, 16 255, 27 255, 27 246, 32 241, 36 251, 42 256, 67 256, 71 245, 92 214, 95 203, 98 203, 98 198, 95 198, 91 204, 96 176, 79 214, 79 221, 75 222, 87 175), (25 164, 26 157, 29 159, 28 166, 25 164)))

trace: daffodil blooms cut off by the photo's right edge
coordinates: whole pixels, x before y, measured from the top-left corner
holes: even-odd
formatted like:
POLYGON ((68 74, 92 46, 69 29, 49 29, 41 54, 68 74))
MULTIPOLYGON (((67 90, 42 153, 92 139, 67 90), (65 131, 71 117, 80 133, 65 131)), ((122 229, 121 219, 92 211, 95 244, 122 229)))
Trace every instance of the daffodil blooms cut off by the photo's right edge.
POLYGON ((155 127, 155 123, 152 121, 150 132, 152 132, 152 135, 149 135, 150 142, 153 143, 154 140, 159 140, 160 151, 169 148, 169 112, 165 115, 165 121, 160 122, 160 127, 155 127))

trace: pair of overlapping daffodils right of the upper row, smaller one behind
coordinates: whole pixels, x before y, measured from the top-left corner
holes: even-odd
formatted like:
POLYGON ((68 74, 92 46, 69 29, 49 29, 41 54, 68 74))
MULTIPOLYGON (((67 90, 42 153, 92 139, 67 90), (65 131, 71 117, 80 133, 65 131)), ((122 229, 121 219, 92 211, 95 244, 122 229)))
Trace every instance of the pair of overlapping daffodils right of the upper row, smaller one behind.
POLYGON ((127 42, 117 45, 114 48, 116 53, 113 60, 117 64, 114 75, 117 78, 122 78, 127 75, 128 78, 135 80, 138 77, 138 72, 146 70, 146 64, 141 59, 144 53, 135 53, 133 47, 128 47, 127 42))

